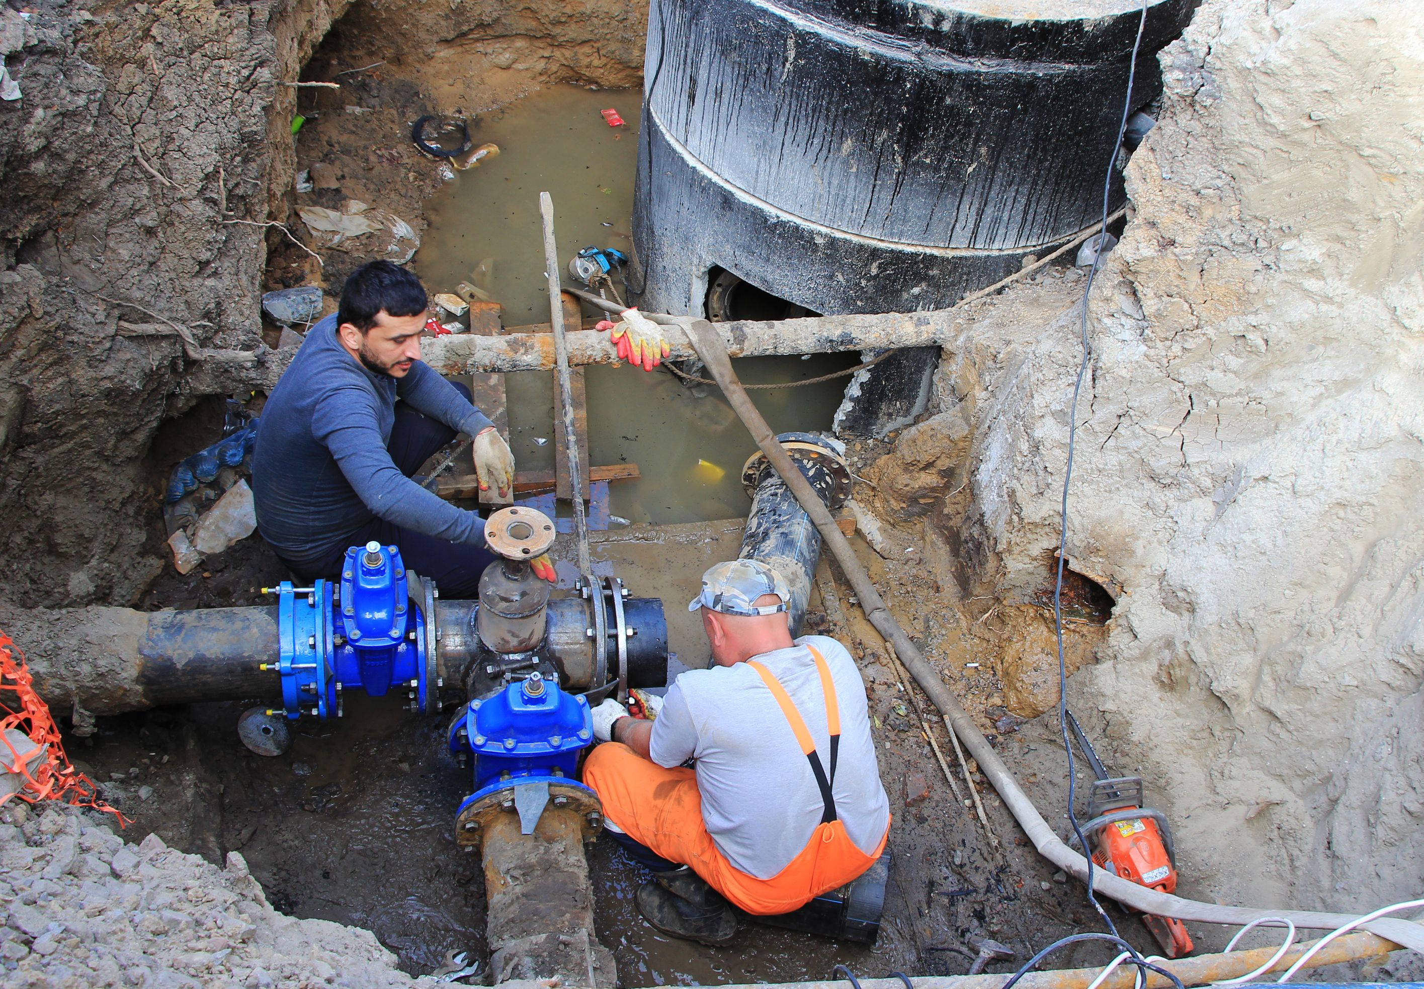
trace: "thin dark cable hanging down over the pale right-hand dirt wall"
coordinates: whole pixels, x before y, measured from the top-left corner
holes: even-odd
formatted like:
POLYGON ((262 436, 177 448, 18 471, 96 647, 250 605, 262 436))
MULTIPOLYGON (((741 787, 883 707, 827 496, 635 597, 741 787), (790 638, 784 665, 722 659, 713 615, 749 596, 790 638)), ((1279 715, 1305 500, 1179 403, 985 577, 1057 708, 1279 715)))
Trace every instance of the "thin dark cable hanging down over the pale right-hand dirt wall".
MULTIPOLYGON (((1098 911, 1098 916, 1101 916, 1102 922, 1108 925, 1108 929, 1114 936, 1116 936, 1118 928, 1112 922, 1112 918, 1108 916, 1108 912, 1102 908, 1102 904, 1098 902, 1096 894, 1092 891, 1092 848, 1084 838, 1082 830, 1078 827, 1078 817, 1074 813, 1077 780, 1074 778, 1072 743, 1068 739, 1068 665, 1064 660, 1062 592, 1064 561, 1068 558, 1068 485, 1072 481, 1072 458, 1078 435, 1078 394, 1082 391, 1082 377, 1088 371, 1088 360, 1092 356, 1092 350, 1088 343, 1088 296, 1092 293, 1094 277, 1098 275, 1098 266, 1102 263, 1102 258, 1106 253, 1106 250, 1104 250, 1104 243, 1108 239, 1108 201, 1112 195, 1112 172, 1118 161, 1118 149, 1122 147, 1122 134, 1128 127, 1128 115, 1132 112, 1132 87, 1138 74, 1138 50, 1142 46, 1142 30, 1148 23, 1148 4, 1152 0, 1142 0, 1142 16, 1138 18, 1138 36, 1132 41, 1132 64, 1128 68, 1128 92, 1122 100, 1122 120, 1118 122, 1118 139, 1112 144, 1112 157, 1108 159, 1106 175, 1102 179, 1102 229, 1098 232, 1098 250, 1094 255, 1092 268, 1088 269, 1088 285, 1082 290, 1082 312, 1079 320, 1082 360, 1078 363, 1078 377, 1074 379, 1072 384, 1072 404, 1068 408, 1068 464, 1064 468, 1064 494, 1058 518, 1058 576, 1054 582, 1054 635, 1058 639, 1058 727, 1062 730, 1064 754, 1068 757, 1068 823, 1072 825, 1072 832, 1078 835, 1078 841, 1082 845, 1085 858, 1088 860, 1088 902, 1092 904, 1095 911, 1098 911)), ((1024 971, 1027 971, 1027 968, 1024 971)), ((1017 980, 1018 976, 1014 976, 1008 985, 1011 986, 1017 980)), ((1004 989, 1008 989, 1008 986, 1004 989)))

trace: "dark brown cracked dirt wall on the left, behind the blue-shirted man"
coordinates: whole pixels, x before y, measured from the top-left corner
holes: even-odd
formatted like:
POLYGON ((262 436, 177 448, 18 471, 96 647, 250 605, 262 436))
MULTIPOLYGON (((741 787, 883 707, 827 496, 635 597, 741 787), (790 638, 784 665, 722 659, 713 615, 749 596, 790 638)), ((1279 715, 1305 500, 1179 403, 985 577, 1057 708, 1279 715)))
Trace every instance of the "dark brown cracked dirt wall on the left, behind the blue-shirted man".
POLYGON ((128 602, 161 566, 144 457, 164 417, 262 376, 266 231, 225 221, 289 184, 281 81, 343 9, 30 4, 0 104, 7 601, 128 602))

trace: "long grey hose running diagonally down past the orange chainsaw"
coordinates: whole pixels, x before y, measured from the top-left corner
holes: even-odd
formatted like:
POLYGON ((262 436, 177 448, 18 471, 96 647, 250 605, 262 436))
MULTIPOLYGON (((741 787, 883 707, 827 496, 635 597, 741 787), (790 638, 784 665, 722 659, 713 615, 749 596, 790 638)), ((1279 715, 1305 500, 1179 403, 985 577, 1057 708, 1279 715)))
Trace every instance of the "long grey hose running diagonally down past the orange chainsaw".
MULTIPOLYGON (((910 636, 907 636, 904 629, 900 628, 900 623, 896 622, 890 609, 886 606, 884 599, 880 596, 880 592, 876 591, 874 585, 870 582, 870 576, 860 565, 860 561, 856 559, 854 551, 850 548, 850 542, 842 534, 840 528, 830 517, 830 512, 826 509, 826 505, 822 504, 815 490, 806 478, 802 477, 802 472, 792 462, 790 457, 786 455, 786 451, 782 450, 779 443, 776 443, 776 437, 772 434, 770 427, 766 425, 766 420, 762 418, 762 414, 756 410, 756 406, 752 404, 752 400, 742 388, 742 383, 732 370, 732 360, 726 353, 726 347, 722 344, 722 337, 718 336, 713 326, 703 319, 695 320, 684 317, 679 319, 678 323, 686 329, 688 337, 692 340, 693 346, 696 346, 698 356, 702 359, 702 363, 706 364, 706 369, 712 373, 712 377, 716 380, 723 394, 726 394, 728 401, 740 417, 742 424, 746 425, 752 438, 756 440, 756 445, 760 447, 763 454, 766 454, 772 467, 775 467, 776 472, 782 475, 786 487, 796 495, 796 501, 800 502, 802 508, 806 509, 806 514, 820 531, 822 539, 836 556, 836 562, 840 564, 840 569, 850 581, 850 586, 854 588, 856 593, 860 596, 860 606, 864 609, 866 618, 876 626, 880 635, 894 645, 896 652, 900 656, 900 662, 910 670, 916 683, 918 683, 930 700, 934 702, 934 706, 940 709, 944 723, 960 737, 964 746, 974 754, 974 758, 978 760, 980 771, 984 773, 984 777, 998 791, 1010 813, 1034 842, 1034 848, 1038 850, 1040 855, 1058 868, 1071 872, 1079 881, 1087 881, 1088 860, 1071 850, 1058 838, 1057 834, 1054 834, 1054 830, 1048 827, 1048 823, 1034 807, 1028 794, 1025 794, 1022 787, 1018 786, 1018 780, 1014 778, 1008 766, 1004 764, 1004 760, 998 757, 998 753, 994 751, 994 749, 988 744, 988 740, 980 733, 974 720, 960 706, 954 694, 944 686, 944 682, 940 679, 934 667, 924 662, 924 656, 920 653, 918 646, 910 640, 910 636)), ((1290 919, 1296 924, 1296 926, 1330 929, 1343 926, 1356 919, 1356 915, 1351 914, 1321 914, 1314 911, 1280 911, 1259 909, 1255 906, 1203 904, 1196 899, 1185 899, 1182 897, 1173 897, 1171 894, 1158 892, 1156 889, 1139 887, 1135 882, 1119 879, 1118 877, 1102 869, 1092 871, 1092 885, 1094 889, 1116 899, 1119 904, 1143 911, 1145 914, 1175 916, 1183 921, 1200 921, 1205 924, 1240 925, 1250 924, 1259 918, 1280 916, 1290 919)), ((1370 921, 1363 926, 1398 945, 1413 948, 1414 951, 1424 951, 1424 928, 1417 924, 1411 924, 1410 921, 1391 921, 1381 918, 1370 921)))

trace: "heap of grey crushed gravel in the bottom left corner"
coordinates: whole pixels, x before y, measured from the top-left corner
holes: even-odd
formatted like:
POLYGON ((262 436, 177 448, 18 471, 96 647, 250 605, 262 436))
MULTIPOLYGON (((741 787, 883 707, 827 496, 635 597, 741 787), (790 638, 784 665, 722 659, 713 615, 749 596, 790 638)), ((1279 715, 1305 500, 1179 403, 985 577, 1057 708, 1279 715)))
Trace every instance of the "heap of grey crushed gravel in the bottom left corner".
POLYGON ((238 852, 226 868, 95 813, 0 810, 0 986, 436 986, 396 969, 369 931, 278 914, 238 852))

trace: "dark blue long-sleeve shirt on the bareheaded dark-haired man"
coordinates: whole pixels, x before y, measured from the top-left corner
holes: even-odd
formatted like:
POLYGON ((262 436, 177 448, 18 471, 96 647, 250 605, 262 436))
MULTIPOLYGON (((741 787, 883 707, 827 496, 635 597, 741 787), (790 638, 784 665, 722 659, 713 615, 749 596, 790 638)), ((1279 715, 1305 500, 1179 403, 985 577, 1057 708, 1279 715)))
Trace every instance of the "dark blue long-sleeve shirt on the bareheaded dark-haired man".
POLYGON ((322 564, 380 517, 451 542, 484 545, 484 521, 407 478, 386 451, 396 398, 474 435, 490 420, 424 361, 375 374, 318 322, 268 398, 252 454, 258 529, 298 566, 322 564))

